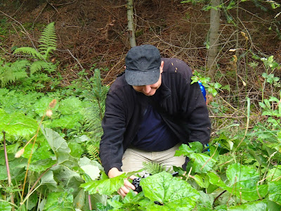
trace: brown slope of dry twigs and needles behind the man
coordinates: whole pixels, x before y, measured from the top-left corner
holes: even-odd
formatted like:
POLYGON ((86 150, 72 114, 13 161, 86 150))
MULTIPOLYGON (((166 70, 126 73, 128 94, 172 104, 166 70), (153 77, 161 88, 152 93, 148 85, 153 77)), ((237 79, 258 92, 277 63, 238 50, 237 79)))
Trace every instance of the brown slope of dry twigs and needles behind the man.
MULTIPOLYGON (((238 9, 221 12, 220 52, 213 80, 230 86, 229 91, 221 91, 219 103, 223 107, 218 109, 228 108, 238 120, 244 113, 239 108, 245 108, 246 97, 257 101, 261 98, 260 82, 264 81, 261 75, 265 67, 252 55, 274 56, 281 62, 281 15, 275 18, 278 11, 265 6, 267 11, 247 1, 238 9), (231 17, 233 23, 228 21, 231 17), (257 66, 253 68, 250 63, 257 66)), ((0 51, 6 56, 15 47, 31 46, 32 42, 37 45, 41 30, 55 22, 58 48, 53 61, 60 63, 62 86, 79 77, 83 69, 90 75, 93 68, 102 70, 103 84, 111 84, 124 71, 124 58, 130 49, 125 1, 6 0, 0 3, 0 11, 0 20, 7 26, 0 33, 8 34, 5 39, 0 34, 0 51)), ((178 0, 136 1, 134 11, 138 45, 153 44, 163 57, 181 58, 192 70, 204 75, 209 11, 202 11, 200 4, 182 4, 178 0)), ((274 74, 281 77, 281 70, 274 74)), ((270 90, 265 94, 269 96, 270 90)), ((218 105, 212 97, 209 101, 218 105)))

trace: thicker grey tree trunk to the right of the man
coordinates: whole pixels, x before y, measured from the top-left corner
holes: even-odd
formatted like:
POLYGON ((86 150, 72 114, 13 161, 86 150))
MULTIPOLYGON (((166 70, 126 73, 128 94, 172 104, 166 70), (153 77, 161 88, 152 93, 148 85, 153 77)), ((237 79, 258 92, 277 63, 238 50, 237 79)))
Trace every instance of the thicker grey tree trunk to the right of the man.
POLYGON ((213 77, 216 73, 216 56, 218 54, 218 30, 219 30, 219 21, 220 14, 218 11, 218 6, 220 0, 211 0, 211 14, 210 14, 210 30, 209 30, 209 51, 207 58, 207 70, 208 76, 213 77))

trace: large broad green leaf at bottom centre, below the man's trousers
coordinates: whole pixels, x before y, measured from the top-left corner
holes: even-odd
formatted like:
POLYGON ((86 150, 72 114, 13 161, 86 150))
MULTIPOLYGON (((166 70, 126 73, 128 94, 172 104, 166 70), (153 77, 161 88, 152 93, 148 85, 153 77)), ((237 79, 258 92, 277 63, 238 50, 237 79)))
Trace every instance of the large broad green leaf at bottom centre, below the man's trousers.
POLYGON ((199 193, 178 177, 172 177, 167 172, 160 172, 141 179, 141 186, 145 197, 152 202, 157 201, 163 206, 151 203, 152 209, 191 210, 196 205, 199 193))

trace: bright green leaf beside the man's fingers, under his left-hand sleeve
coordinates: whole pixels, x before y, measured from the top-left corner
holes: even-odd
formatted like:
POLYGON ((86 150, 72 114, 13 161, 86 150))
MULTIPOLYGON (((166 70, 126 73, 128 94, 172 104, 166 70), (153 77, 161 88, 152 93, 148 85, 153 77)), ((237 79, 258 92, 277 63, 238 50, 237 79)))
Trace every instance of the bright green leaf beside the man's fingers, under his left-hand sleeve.
POLYGON ((89 191, 90 194, 100 193, 110 196, 112 193, 124 186, 124 179, 126 178, 126 174, 121 174, 118 177, 111 179, 90 181, 85 184, 81 184, 81 187, 84 188, 85 191, 89 191))

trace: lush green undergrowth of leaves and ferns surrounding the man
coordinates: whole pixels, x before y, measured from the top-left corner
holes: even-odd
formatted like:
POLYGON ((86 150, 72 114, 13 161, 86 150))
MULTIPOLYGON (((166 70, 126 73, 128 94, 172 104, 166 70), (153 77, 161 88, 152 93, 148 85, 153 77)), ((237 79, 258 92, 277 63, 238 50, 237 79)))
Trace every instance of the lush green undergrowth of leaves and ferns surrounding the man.
POLYGON ((51 62, 53 23, 39 41, 38 49, 15 50, 31 56, 28 60, 1 59, 1 209, 280 210, 281 93, 275 75, 280 64, 273 56, 256 56, 247 63, 263 67, 257 77, 259 98, 251 98, 243 83, 244 98, 241 89, 194 72, 192 83, 200 80, 209 92, 214 127, 209 145, 193 142, 179 148, 176 156, 190 159, 187 170, 145 164, 152 175, 141 179, 143 191, 121 198, 118 188, 138 172, 109 179, 100 165, 101 120, 109 89, 100 69, 93 65, 91 75, 81 70, 72 84, 58 87, 60 79, 50 80, 58 68, 51 62), (235 103, 222 97, 226 93, 235 103), (178 173, 173 177, 171 172, 178 173))

